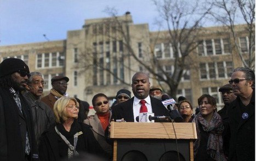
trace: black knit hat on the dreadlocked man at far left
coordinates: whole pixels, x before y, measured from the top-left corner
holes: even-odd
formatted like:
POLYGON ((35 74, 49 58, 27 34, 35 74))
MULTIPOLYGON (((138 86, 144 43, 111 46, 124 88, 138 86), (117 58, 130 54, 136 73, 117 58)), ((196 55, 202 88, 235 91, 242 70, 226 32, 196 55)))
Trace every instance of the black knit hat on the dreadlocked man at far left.
POLYGON ((21 59, 8 58, 4 59, 0 64, 0 78, 18 71, 30 73, 29 66, 21 59))

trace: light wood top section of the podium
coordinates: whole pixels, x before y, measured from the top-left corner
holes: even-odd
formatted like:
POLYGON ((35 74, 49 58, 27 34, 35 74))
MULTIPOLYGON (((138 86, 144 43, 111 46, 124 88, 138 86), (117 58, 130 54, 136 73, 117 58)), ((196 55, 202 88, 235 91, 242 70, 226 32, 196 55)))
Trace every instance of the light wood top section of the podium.
POLYGON ((195 123, 111 122, 112 139, 197 139, 195 123), (174 129, 173 129, 174 126, 174 129))

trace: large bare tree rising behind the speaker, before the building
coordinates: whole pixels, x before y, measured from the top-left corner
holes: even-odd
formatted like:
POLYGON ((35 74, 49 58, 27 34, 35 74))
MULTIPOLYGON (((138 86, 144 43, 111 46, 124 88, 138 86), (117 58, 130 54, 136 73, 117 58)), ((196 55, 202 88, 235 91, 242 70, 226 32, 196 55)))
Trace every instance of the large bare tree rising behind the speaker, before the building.
MULTIPOLYGON (((116 30, 118 31, 118 37, 123 40, 124 47, 127 50, 128 57, 136 60, 138 64, 143 66, 147 72, 151 74, 153 78, 159 82, 167 85, 166 92, 174 97, 177 95, 178 85, 183 77, 184 73, 189 70, 193 65, 191 62, 190 53, 197 47, 197 37, 199 32, 202 30, 201 22, 204 20, 206 15, 211 10, 212 6, 209 5, 208 8, 200 8, 198 1, 188 2, 188 1, 153 1, 156 8, 160 14, 160 17, 164 23, 166 23, 168 30, 156 32, 155 36, 150 40, 150 51, 145 51, 143 58, 139 58, 132 45, 132 39, 130 37, 129 30, 127 29, 128 22, 118 19, 116 16, 116 10, 112 8, 107 8, 107 12, 111 14, 111 21, 117 24, 116 30), (160 36, 162 34, 162 36, 160 36), (161 40, 160 40, 161 38, 161 40), (166 62, 160 60, 155 55, 155 44, 157 42, 166 42, 172 45, 173 48, 173 59, 166 62), (146 61, 145 61, 146 59, 146 61), (172 64, 174 66, 174 72, 169 73, 164 70, 164 64, 172 64)), ((110 20, 108 20, 110 21, 110 20)), ((108 35, 110 38, 111 34, 108 35)), ((99 68, 112 74, 112 76, 117 77, 110 67, 101 64, 101 62, 95 59, 93 54, 93 49, 87 49, 87 52, 82 52, 81 60, 89 60, 88 56, 91 56, 92 62, 80 63, 79 67, 83 64, 83 68, 99 68)), ((130 68, 130 66, 126 66, 130 68)), ((130 68, 131 69, 131 68, 130 68)), ((124 82, 122 83, 129 84, 124 82)))

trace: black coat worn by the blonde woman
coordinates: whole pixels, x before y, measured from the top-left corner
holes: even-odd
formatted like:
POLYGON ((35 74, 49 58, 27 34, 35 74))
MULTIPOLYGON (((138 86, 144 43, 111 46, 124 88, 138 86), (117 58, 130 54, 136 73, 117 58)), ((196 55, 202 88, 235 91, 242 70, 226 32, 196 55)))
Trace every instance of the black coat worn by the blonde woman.
MULTIPOLYGON (((104 156, 106 157, 105 152, 100 147, 99 143, 95 140, 95 137, 92 132, 92 126, 89 126, 84 123, 80 122, 73 122, 73 124, 77 124, 78 131, 82 131, 83 134, 78 135, 77 140, 77 146, 76 150, 78 153, 81 152, 88 152, 91 154, 97 154, 98 156, 104 156)), ((73 125, 72 125, 73 126, 73 125)), ((40 137, 40 143, 39 143, 39 157, 41 161, 56 161, 61 159, 67 159, 67 158, 61 158, 60 154, 64 151, 64 148, 66 148, 66 156, 67 156, 67 147, 63 147, 63 149, 60 149, 60 145, 62 142, 61 137, 56 133, 54 129, 55 125, 52 125, 47 131, 45 131, 42 136, 40 137)), ((60 130, 59 130, 60 131, 60 130)), ((64 134, 62 134, 64 135, 64 134)), ((71 143, 71 142, 70 142, 71 143)), ((65 143, 64 143, 65 144, 65 143)), ((72 143, 71 143, 72 144, 72 143)))

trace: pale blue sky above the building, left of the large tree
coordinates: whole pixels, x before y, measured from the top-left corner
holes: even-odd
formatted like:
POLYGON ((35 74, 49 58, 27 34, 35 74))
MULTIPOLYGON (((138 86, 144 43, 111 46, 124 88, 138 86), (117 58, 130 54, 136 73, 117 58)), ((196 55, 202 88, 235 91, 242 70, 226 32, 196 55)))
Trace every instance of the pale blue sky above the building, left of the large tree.
POLYGON ((43 34, 50 41, 66 39, 67 31, 81 29, 85 19, 109 17, 107 6, 118 15, 129 11, 134 24, 156 30, 158 14, 150 0, 0 0, 0 45, 44 42, 43 34))

